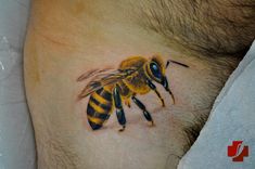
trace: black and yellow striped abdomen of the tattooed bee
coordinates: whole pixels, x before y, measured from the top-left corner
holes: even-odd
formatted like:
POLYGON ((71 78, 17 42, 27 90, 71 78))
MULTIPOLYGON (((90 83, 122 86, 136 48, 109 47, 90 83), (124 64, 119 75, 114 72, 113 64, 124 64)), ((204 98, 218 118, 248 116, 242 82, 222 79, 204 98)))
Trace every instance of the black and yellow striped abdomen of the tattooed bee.
POLYGON ((100 129, 112 113, 113 98, 110 88, 104 87, 90 95, 87 106, 87 117, 93 130, 100 129))

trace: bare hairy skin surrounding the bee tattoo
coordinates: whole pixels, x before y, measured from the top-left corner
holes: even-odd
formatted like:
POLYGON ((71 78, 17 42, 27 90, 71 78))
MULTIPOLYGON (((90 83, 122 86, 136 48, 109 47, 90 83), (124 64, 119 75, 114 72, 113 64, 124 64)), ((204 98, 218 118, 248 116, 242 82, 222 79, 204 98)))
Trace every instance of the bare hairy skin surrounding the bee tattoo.
POLYGON ((220 1, 220 5, 197 1, 201 8, 196 9, 197 18, 193 18, 188 16, 192 11, 189 6, 194 4, 169 2, 171 12, 163 13, 173 17, 166 24, 161 21, 166 18, 161 16, 164 3, 154 1, 33 1, 25 44, 25 86, 39 169, 176 168, 251 44, 254 22, 247 16, 254 13, 246 8, 251 1, 233 8, 229 4, 235 1, 220 1), (205 6, 211 6, 211 15, 205 6), (222 20, 232 21, 232 29, 217 20, 224 12, 222 20), (240 17, 234 17, 234 12, 240 17), (206 20, 209 16, 214 20, 206 20), (239 23, 246 23, 246 27, 239 30, 239 23), (154 127, 131 104, 131 108, 124 106, 124 132, 118 132, 114 112, 102 129, 92 131, 86 115, 88 98, 77 102, 88 81, 77 82, 77 78, 94 68, 117 69, 131 55, 150 58, 154 54, 161 54, 164 62, 170 58, 189 65, 170 64, 166 69, 176 103, 154 82, 166 107, 153 92, 138 95, 151 112, 154 127))

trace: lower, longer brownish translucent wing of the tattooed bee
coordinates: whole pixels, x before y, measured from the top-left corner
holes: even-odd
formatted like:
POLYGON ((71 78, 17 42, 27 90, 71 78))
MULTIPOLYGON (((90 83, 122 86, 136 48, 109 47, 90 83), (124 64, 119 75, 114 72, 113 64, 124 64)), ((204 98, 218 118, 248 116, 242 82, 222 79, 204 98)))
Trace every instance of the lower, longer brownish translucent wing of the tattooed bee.
POLYGON ((131 67, 122 70, 114 70, 112 73, 99 74, 94 76, 94 78, 84 88, 84 90, 79 93, 78 100, 81 100, 92 92, 103 88, 107 84, 116 83, 117 81, 125 79, 126 77, 136 73, 138 68, 131 67))

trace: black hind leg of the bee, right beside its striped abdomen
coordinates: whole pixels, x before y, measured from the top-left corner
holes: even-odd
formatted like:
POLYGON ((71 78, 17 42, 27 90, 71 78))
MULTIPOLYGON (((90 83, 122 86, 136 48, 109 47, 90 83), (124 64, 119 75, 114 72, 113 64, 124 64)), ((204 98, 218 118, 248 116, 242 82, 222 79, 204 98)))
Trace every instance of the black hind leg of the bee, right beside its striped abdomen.
POLYGON ((116 86, 113 90, 113 99, 114 99, 114 104, 116 108, 118 123, 123 126, 123 128, 119 129, 119 131, 124 131, 126 128, 126 117, 125 117, 125 113, 123 109, 123 103, 122 103, 118 86, 116 86))

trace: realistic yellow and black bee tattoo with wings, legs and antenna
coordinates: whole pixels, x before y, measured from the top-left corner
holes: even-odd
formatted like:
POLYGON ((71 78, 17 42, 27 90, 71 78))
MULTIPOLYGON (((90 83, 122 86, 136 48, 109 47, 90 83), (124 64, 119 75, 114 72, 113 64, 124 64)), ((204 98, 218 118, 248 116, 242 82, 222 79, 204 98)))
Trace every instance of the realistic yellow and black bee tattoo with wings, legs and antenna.
POLYGON ((126 128, 126 117, 123 103, 130 107, 130 100, 142 110, 145 119, 153 125, 151 114, 136 95, 143 95, 153 90, 161 100, 162 106, 165 106, 161 93, 153 83, 155 81, 165 88, 171 95, 175 104, 175 98, 165 75, 165 69, 170 62, 189 67, 171 60, 164 64, 160 55, 151 58, 130 56, 119 64, 118 69, 112 72, 111 69, 94 69, 81 75, 77 81, 93 77, 78 95, 78 100, 90 95, 87 106, 87 118, 92 130, 100 129, 115 108, 118 123, 122 126, 119 131, 124 131, 126 128))

